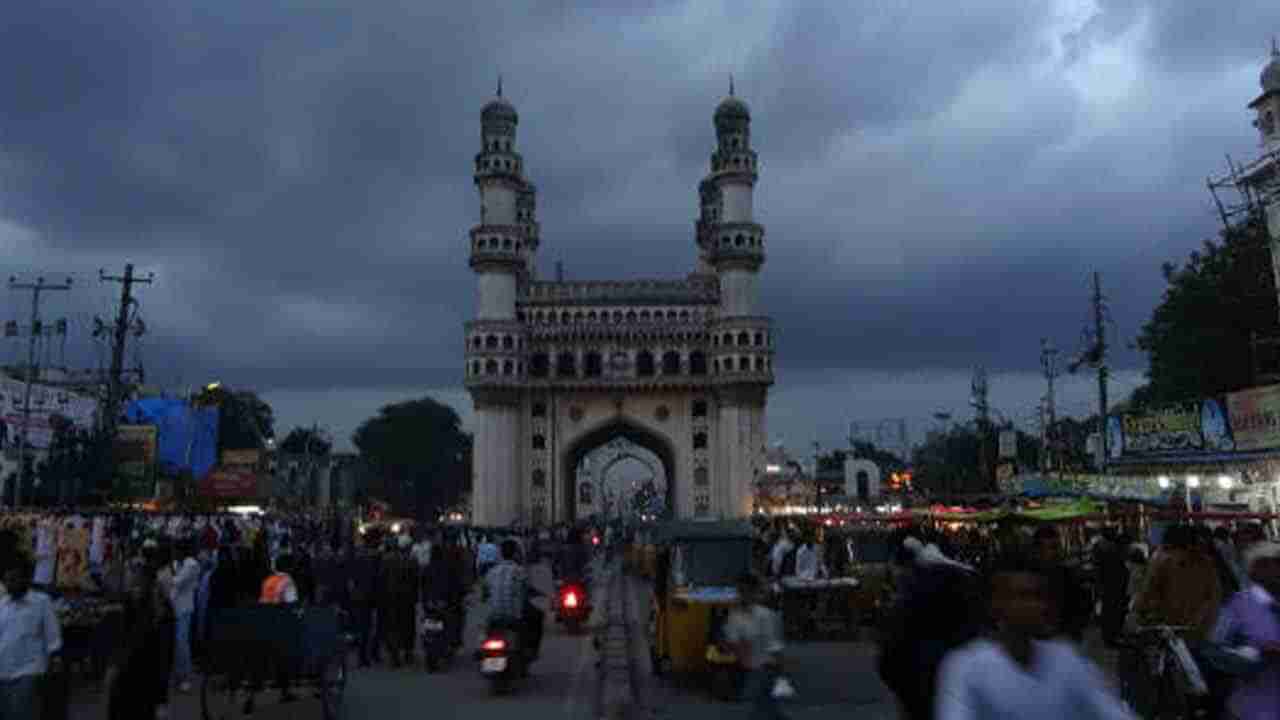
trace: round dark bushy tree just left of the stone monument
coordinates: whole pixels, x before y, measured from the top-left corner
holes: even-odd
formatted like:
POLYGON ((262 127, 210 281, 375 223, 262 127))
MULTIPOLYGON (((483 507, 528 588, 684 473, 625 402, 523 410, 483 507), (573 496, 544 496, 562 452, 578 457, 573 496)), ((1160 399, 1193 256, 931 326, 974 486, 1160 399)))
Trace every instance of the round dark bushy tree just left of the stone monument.
POLYGON ((471 436, 452 407, 431 397, 381 407, 352 442, 378 479, 369 492, 385 495, 397 510, 430 518, 470 484, 471 436))

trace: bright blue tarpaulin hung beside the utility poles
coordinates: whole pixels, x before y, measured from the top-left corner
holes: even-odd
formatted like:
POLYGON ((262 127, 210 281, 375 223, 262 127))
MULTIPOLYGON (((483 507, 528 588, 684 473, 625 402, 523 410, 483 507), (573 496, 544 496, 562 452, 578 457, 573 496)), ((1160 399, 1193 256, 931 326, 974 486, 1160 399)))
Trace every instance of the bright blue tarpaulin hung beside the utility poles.
POLYGON ((152 397, 131 402, 124 415, 129 423, 156 427, 156 455, 165 471, 189 469, 198 480, 218 462, 216 407, 152 397))

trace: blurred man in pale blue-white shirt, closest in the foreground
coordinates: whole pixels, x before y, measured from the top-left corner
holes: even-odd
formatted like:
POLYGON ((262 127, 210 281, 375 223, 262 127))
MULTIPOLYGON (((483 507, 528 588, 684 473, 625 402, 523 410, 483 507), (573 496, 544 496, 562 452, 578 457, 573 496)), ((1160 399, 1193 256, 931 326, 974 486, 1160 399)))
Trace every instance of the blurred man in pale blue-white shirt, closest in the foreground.
POLYGON ((996 632, 960 646, 938 670, 937 720, 1132 720, 1101 673, 1050 628, 1050 578, 1025 555, 1001 557, 991 579, 996 632))

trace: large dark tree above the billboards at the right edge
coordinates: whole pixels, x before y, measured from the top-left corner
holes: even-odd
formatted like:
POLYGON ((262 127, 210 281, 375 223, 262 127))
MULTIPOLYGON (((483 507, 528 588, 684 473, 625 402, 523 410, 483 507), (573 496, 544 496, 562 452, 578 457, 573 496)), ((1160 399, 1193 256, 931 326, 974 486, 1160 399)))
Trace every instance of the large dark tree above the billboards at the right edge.
POLYGON ((1147 384, 1135 406, 1221 395, 1253 384, 1252 334, 1276 334, 1270 240, 1261 217, 1206 241, 1187 263, 1162 266, 1167 287, 1138 336, 1147 384))

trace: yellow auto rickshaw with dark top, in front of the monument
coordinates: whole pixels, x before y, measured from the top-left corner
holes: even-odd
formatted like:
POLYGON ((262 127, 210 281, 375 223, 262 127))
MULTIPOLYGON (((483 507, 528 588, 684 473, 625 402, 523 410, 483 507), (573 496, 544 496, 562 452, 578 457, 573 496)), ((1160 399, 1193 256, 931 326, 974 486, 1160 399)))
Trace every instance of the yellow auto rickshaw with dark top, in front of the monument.
POLYGON ((745 521, 677 521, 654 530, 649 656, 654 674, 709 676, 727 693, 737 659, 719 643, 737 580, 751 571, 745 521))

